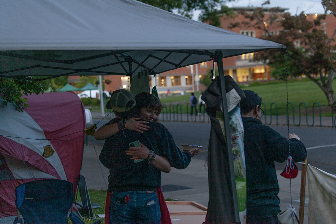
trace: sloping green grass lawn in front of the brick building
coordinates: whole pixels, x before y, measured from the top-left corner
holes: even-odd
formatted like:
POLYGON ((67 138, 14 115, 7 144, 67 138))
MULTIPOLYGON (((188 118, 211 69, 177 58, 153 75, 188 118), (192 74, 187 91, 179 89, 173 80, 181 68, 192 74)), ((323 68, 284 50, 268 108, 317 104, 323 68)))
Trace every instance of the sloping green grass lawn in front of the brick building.
MULTIPOLYGON (((261 98, 263 103, 266 104, 266 114, 269 115, 270 104, 275 102, 278 105, 279 115, 286 115, 286 81, 269 81, 263 84, 254 82, 249 86, 241 86, 242 89, 251 89, 255 91, 261 98)), ((333 83, 334 89, 336 89, 336 81, 333 83)), ((167 98, 161 98, 160 101, 164 106, 162 113, 190 113, 190 94, 185 94, 183 96, 172 96, 167 98), (176 106, 180 104, 181 106, 176 106), (174 105, 174 106, 173 106, 174 105)), ((200 92, 195 92, 197 99, 200 96, 200 92)), ((288 81, 288 101, 292 102, 294 105, 295 115, 298 115, 299 104, 305 102, 308 108, 308 115, 312 114, 312 105, 314 102, 319 102, 322 107, 322 116, 331 116, 331 109, 328 106, 327 98, 324 95, 323 91, 312 81, 307 78, 296 79, 288 81)), ((262 109, 263 106, 262 106, 262 109)), ((91 111, 99 112, 99 107, 90 108, 91 111)), ((199 108, 197 107, 197 110, 199 108)), ((272 106, 272 114, 276 114, 275 106, 272 106)), ((292 115, 292 107, 289 106, 289 115, 292 115)), ((301 115, 305 116, 305 107, 301 105, 301 115)), ((315 105, 314 115, 319 116, 319 107, 315 105)), ((160 117, 162 114, 160 115, 160 117)))

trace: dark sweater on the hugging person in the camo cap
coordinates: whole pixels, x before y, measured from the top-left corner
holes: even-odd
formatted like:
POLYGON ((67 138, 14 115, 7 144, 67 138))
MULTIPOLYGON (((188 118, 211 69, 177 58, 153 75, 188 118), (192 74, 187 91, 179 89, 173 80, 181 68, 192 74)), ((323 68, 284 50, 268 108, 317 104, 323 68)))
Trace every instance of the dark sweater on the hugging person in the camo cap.
MULTIPOLYGON (((108 124, 118 122, 118 118, 111 120, 108 124)), ((161 185, 161 171, 148 164, 144 160, 135 163, 126 155, 129 143, 140 141, 149 150, 165 157, 172 167, 176 169, 186 168, 191 161, 190 152, 181 152, 176 146, 174 139, 168 129, 157 122, 149 122, 150 126, 143 133, 134 130, 125 130, 107 138, 100 152, 99 160, 110 169, 109 191, 155 191, 161 185)))

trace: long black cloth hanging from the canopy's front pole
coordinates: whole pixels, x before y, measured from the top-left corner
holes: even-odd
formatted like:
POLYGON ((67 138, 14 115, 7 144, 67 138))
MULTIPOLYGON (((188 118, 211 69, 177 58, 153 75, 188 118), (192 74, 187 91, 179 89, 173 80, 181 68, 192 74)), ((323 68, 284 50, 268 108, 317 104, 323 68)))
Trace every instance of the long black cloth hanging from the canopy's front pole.
MULTIPOLYGON (((237 195, 237 190, 236 183, 234 183, 234 185, 232 183, 232 172, 234 172, 232 163, 233 156, 229 156, 229 150, 232 150, 232 147, 229 147, 228 150, 224 128, 225 125, 223 125, 223 99, 221 94, 220 80, 220 78, 223 77, 224 76, 217 76, 210 84, 209 88, 206 89, 202 95, 202 100, 204 100, 207 104, 206 111, 211 120, 208 147, 209 203, 207 223, 209 224, 231 224, 235 223, 237 218, 235 211, 235 203, 237 203, 237 197, 235 197, 235 195, 237 195)), ((227 111, 230 112, 239 104, 242 99, 245 98, 245 94, 239 85, 230 76, 225 76, 224 79, 227 111)))

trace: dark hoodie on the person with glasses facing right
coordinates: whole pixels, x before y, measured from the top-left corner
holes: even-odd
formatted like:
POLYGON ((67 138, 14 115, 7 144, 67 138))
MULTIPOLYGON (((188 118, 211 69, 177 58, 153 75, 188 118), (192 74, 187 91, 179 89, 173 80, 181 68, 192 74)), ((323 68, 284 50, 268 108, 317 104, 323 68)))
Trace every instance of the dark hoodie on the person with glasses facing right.
POLYGON ((279 184, 274 161, 288 158, 288 142, 295 162, 307 157, 305 146, 298 139, 289 141, 272 128, 252 117, 242 117, 247 182, 247 221, 278 215, 279 184))

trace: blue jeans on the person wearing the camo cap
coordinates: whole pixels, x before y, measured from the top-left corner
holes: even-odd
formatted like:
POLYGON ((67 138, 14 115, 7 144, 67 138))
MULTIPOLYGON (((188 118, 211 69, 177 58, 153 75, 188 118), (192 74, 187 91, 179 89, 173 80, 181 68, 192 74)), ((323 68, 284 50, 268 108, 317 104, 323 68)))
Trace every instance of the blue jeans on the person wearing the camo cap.
POLYGON ((109 214, 110 224, 161 223, 160 204, 156 192, 113 191, 109 214), (121 199, 126 195, 129 195, 129 202, 124 203, 121 199))

